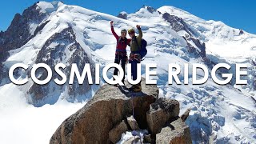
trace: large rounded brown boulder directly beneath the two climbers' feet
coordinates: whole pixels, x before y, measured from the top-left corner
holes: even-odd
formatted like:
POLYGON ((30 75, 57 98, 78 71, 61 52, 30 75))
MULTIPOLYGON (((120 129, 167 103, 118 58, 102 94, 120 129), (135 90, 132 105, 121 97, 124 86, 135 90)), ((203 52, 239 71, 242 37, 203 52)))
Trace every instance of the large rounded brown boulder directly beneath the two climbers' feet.
POLYGON ((50 140, 50 143, 106 143, 110 142, 109 132, 126 115, 132 114, 131 101, 134 103, 134 117, 138 125, 146 129, 146 111, 150 103, 158 98, 156 86, 143 86, 138 94, 123 94, 118 87, 104 85, 90 102, 81 110, 67 118, 50 140), (134 98, 130 98, 134 96, 134 98))

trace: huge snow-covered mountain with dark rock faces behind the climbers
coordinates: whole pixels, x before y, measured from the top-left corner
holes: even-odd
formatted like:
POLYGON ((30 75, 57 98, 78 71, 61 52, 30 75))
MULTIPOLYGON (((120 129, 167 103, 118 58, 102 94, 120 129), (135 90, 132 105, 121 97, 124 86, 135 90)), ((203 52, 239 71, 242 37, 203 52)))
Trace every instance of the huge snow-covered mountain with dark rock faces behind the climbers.
MULTIPOLYGON (((156 78, 161 96, 177 99, 182 112, 192 109, 186 124, 190 126, 194 143, 256 142, 256 35, 223 22, 203 20, 173 6, 162 6, 157 10, 143 6, 134 14, 122 12, 118 17, 62 2, 38 2, 22 15, 15 15, 8 30, 0 33, 0 127, 4 128, 0 134, 7 135, 1 138, 1 143, 17 143, 11 139, 13 134, 5 130, 15 131, 18 142, 49 142, 60 123, 81 108, 98 89, 87 82, 78 85, 77 81, 74 85, 58 86, 50 82, 38 86, 31 78, 26 85, 16 86, 8 78, 10 66, 22 62, 31 68, 35 63, 44 62, 53 68, 62 62, 68 66, 64 71, 66 75, 69 75, 70 63, 77 63, 79 70, 86 62, 91 64, 92 70, 95 63, 104 67, 114 62, 116 41, 110 31, 111 20, 117 33, 137 24, 142 26, 143 38, 148 42, 142 74, 145 74, 143 64, 157 63, 156 78), (167 83, 169 63, 177 63, 183 70, 183 63, 202 63, 212 68, 220 62, 229 63, 233 67, 229 70, 232 74, 235 74, 235 63, 246 63, 248 85, 234 85, 233 79, 230 85, 219 86, 211 78, 204 85, 167 83), (40 114, 36 114, 37 111, 40 114), (41 114, 46 116, 33 116, 41 114), (34 135, 38 125, 42 128, 41 135, 30 139, 20 132, 19 128, 23 126, 12 126, 16 121, 10 119, 19 117, 23 117, 22 125, 32 127, 26 135, 34 135), (49 124, 47 119, 53 119, 54 124, 49 124), (34 121, 38 124, 31 125, 34 121)), ((192 67, 189 71, 191 83, 192 67)), ((219 71, 220 74, 224 72, 227 71, 219 71)), ((45 71, 39 73, 38 78, 46 77, 45 71)), ((29 71, 21 70, 14 74, 20 79, 30 75, 29 71)), ((198 70, 200 76, 202 71, 198 70)), ((58 75, 54 74, 54 78, 58 75)), ((183 72, 179 78, 183 79, 183 72)))

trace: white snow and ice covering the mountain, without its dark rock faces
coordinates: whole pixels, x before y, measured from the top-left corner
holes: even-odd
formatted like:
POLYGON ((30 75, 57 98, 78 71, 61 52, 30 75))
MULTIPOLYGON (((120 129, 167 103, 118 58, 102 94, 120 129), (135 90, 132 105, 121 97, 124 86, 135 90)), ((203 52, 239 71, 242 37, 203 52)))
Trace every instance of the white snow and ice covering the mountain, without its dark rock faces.
MULTIPOLYGON (((256 98, 256 92, 252 88, 255 70, 251 69, 249 73, 252 77, 248 78, 248 86, 218 86, 211 78, 204 85, 192 85, 192 64, 204 62, 202 58, 187 51, 186 40, 182 38, 185 32, 172 30, 170 24, 162 18, 162 14, 167 12, 183 18, 193 30, 192 36, 206 42, 206 57, 213 62, 241 62, 251 66, 250 61, 256 55, 253 48, 256 46, 254 34, 244 32, 239 35, 240 30, 222 22, 205 21, 172 6, 159 8, 158 11, 162 14, 158 11, 150 12, 145 6, 135 14, 128 14, 127 20, 56 2, 39 2, 38 9, 49 14, 49 18, 45 20, 49 22, 24 46, 10 51, 10 57, 4 62, 6 67, 16 62, 33 66, 38 51, 45 42, 68 27, 74 30, 76 41, 90 59, 101 63, 103 67, 114 62, 116 40, 110 31, 110 20, 114 21, 117 33, 138 24, 142 26, 143 38, 148 42, 148 54, 142 62, 142 74, 145 73, 146 63, 157 63, 156 78, 160 96, 177 99, 181 103, 181 114, 187 108, 192 109, 186 123, 190 126, 193 142, 256 142, 256 104, 252 99, 256 98), (29 55, 24 57, 28 53, 29 55), (168 85, 169 63, 181 66, 183 63, 189 63, 190 85, 168 85)), ((50 46, 54 48, 56 45, 52 43, 50 46)), ((234 73, 232 70, 230 72, 234 73)), ((200 75, 202 71, 198 70, 198 77, 200 75)), ((179 78, 183 79, 183 72, 179 78)), ((63 91, 57 96, 58 101, 54 105, 46 104, 35 108, 27 104, 27 98, 30 97, 27 95, 27 88, 11 83, 0 87, 0 127, 3 127, 0 135, 5 135, 5 138, 0 138, 0 143, 16 143, 14 135, 18 142, 22 143, 34 143, 36 139, 38 142, 48 143, 51 134, 61 122, 85 104, 85 99, 82 103, 76 103, 78 100, 75 99, 74 103, 66 102, 68 95, 63 91), (17 123, 16 119, 22 125, 17 123), (15 133, 12 134, 12 131, 15 133)))

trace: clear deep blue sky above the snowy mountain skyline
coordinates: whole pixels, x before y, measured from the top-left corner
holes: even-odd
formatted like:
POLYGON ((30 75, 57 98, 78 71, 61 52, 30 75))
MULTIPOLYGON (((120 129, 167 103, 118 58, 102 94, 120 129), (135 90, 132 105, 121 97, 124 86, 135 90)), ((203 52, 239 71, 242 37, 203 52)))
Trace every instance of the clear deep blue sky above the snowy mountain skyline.
MULTIPOLYGON (((34 2, 37 1, 3 0, 0 8, 0 30, 6 30, 14 18, 14 14, 21 14, 26 7, 33 5, 34 2)), ((256 1, 254 0, 62 0, 62 2, 112 15, 118 15, 120 11, 134 13, 143 5, 154 8, 175 6, 200 18, 222 21, 229 26, 256 34, 256 1)))

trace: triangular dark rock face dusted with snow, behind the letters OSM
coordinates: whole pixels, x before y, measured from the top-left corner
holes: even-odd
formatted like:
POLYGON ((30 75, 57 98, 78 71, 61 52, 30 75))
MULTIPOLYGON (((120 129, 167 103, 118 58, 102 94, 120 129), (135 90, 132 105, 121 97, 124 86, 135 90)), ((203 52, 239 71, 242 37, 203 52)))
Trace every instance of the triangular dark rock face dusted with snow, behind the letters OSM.
MULTIPOLYGON (((90 64, 90 70, 92 78, 95 78, 94 72, 94 62, 90 61, 86 51, 82 49, 82 46, 76 41, 76 36, 71 27, 68 27, 62 30, 60 33, 54 34, 49 38, 45 45, 42 46, 42 49, 38 52, 37 59, 35 63, 46 63, 52 70, 60 62, 66 62, 66 69, 62 70, 67 76, 67 80, 70 79, 70 70, 72 63, 76 63, 78 70, 82 73, 83 66, 86 63, 90 64)), ((41 74, 39 79, 45 79, 47 77, 46 70, 37 70, 37 74, 41 74)), ((30 75, 30 74, 29 74, 30 75)), ((53 73, 52 79, 59 78, 57 73, 53 73)), ((61 78, 59 78, 61 79, 61 78)), ((57 101, 58 98, 54 98, 54 95, 51 94, 61 94, 62 91, 66 88, 70 98, 67 100, 73 100, 75 97, 78 97, 82 94, 86 94, 87 91, 90 91, 89 82, 87 76, 82 85, 78 84, 78 80, 75 78, 73 85, 66 84, 59 86, 54 81, 50 81, 44 86, 40 86, 34 83, 30 86, 29 93, 31 94, 31 103, 34 106, 42 106, 45 103, 49 103, 48 99, 51 99, 51 102, 57 101)))

